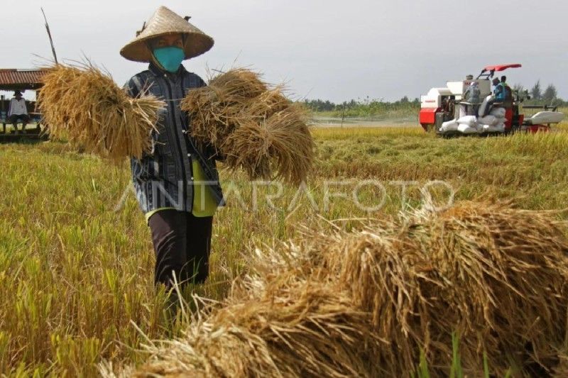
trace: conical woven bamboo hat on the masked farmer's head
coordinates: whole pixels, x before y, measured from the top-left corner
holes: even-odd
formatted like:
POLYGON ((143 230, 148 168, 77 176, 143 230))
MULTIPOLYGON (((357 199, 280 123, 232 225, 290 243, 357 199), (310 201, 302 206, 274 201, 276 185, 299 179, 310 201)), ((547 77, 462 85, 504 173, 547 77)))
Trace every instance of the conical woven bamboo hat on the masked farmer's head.
POLYGON ((189 23, 190 17, 181 17, 165 6, 160 6, 153 16, 144 23, 136 38, 120 50, 120 55, 134 62, 150 62, 152 52, 148 40, 160 35, 180 33, 185 38, 185 59, 197 57, 213 47, 213 38, 189 23))

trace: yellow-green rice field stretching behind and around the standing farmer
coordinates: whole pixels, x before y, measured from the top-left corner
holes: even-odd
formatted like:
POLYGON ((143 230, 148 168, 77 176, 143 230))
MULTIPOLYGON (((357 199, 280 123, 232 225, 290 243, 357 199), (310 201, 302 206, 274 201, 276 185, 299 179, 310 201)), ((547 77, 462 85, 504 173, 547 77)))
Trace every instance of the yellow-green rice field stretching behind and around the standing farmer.
MULTIPOLYGON (((233 279, 249 272, 255 246, 302 238, 303 226, 349 230, 361 219, 465 200, 567 218, 568 125, 451 140, 419 127, 312 134, 317 154, 305 187, 251 184, 221 170, 229 205, 215 218, 212 274, 196 294, 223 300, 233 279)), ((0 145, 0 164, 2 374, 92 377, 100 362, 114 369, 145 362, 146 338, 182 335, 189 320, 172 323, 153 287, 150 234, 126 162, 109 165, 46 142, 0 145)))

